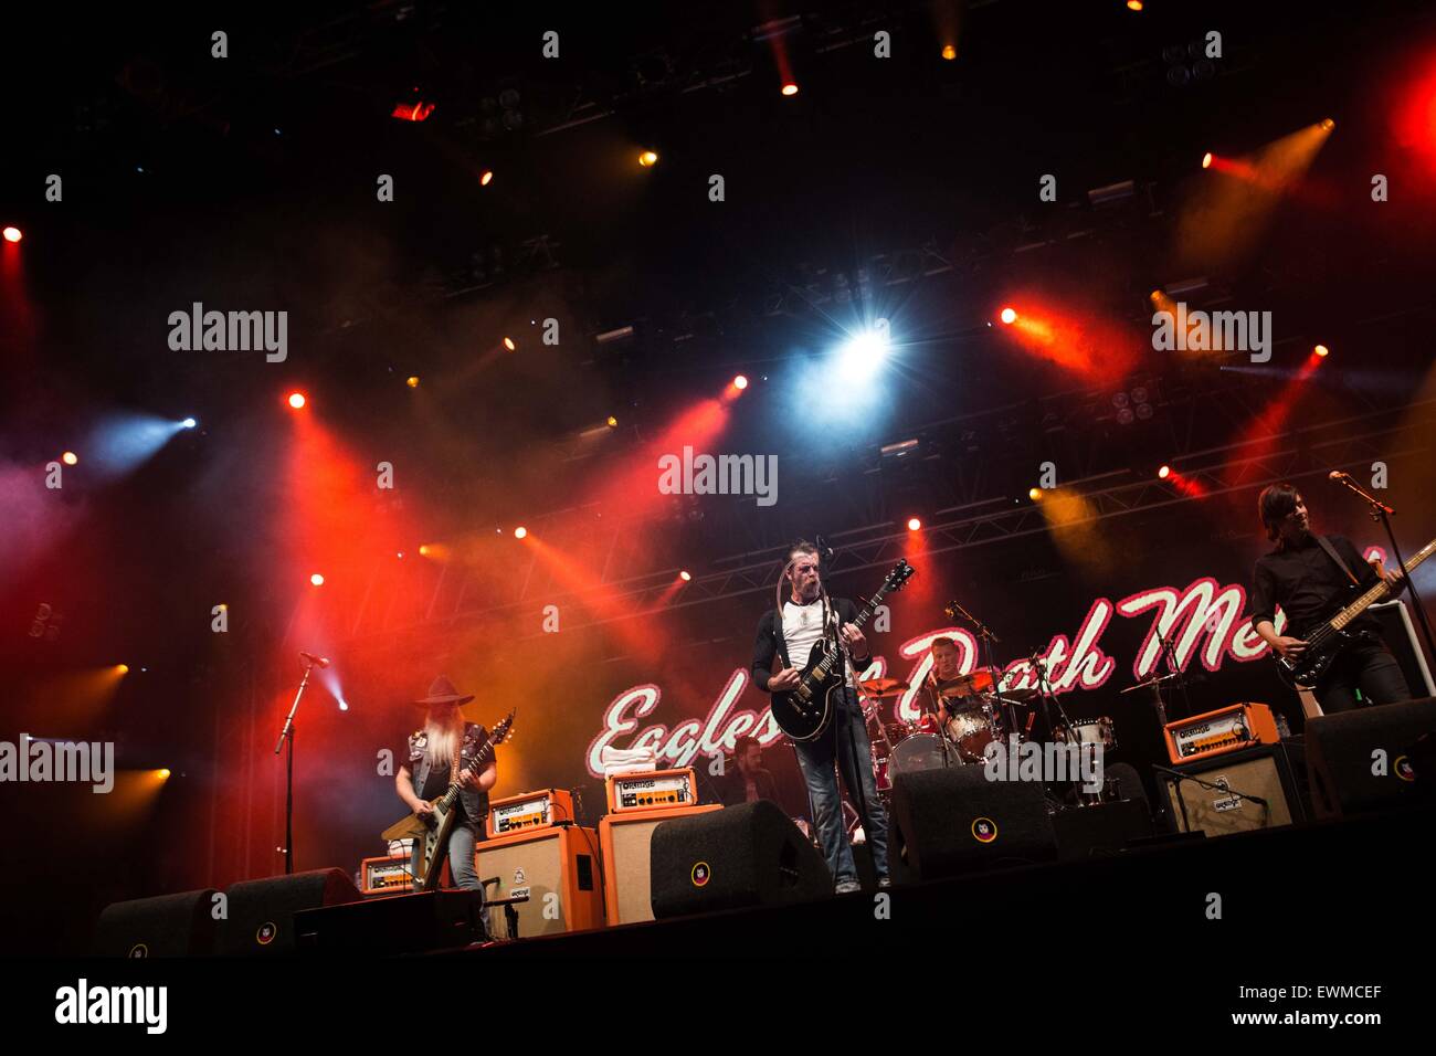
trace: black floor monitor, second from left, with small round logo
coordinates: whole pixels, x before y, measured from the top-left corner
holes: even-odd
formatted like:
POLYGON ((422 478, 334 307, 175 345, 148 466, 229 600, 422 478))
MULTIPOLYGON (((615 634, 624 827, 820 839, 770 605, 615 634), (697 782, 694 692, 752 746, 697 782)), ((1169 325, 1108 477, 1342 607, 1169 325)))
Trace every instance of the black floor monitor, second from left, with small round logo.
POLYGON ((299 948, 294 914, 363 898, 343 869, 312 869, 230 886, 228 918, 220 925, 225 957, 283 957, 299 948))

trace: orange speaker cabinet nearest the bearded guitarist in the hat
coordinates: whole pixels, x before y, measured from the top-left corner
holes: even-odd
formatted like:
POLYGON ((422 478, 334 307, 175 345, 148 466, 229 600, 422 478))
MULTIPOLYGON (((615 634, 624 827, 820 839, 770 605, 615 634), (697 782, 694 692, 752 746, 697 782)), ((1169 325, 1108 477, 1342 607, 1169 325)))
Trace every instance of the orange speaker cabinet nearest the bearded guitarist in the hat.
MULTIPOLYGON (((593 829, 559 825, 551 829, 520 829, 478 845, 474 852, 481 881, 498 878, 494 898, 528 895, 518 912, 520 938, 583 931, 603 924, 593 829)), ((490 932, 507 935, 504 911, 490 909, 490 932)))

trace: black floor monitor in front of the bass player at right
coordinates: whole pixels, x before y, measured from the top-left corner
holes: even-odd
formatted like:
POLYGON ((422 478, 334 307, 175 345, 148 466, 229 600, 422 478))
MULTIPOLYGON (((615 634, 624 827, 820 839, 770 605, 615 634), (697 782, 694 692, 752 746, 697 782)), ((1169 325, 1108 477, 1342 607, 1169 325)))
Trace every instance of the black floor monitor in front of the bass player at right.
POLYGON ((1417 779, 1412 757, 1420 753, 1420 737, 1433 731, 1436 697, 1307 720, 1317 818, 1429 803, 1436 774, 1417 779))

